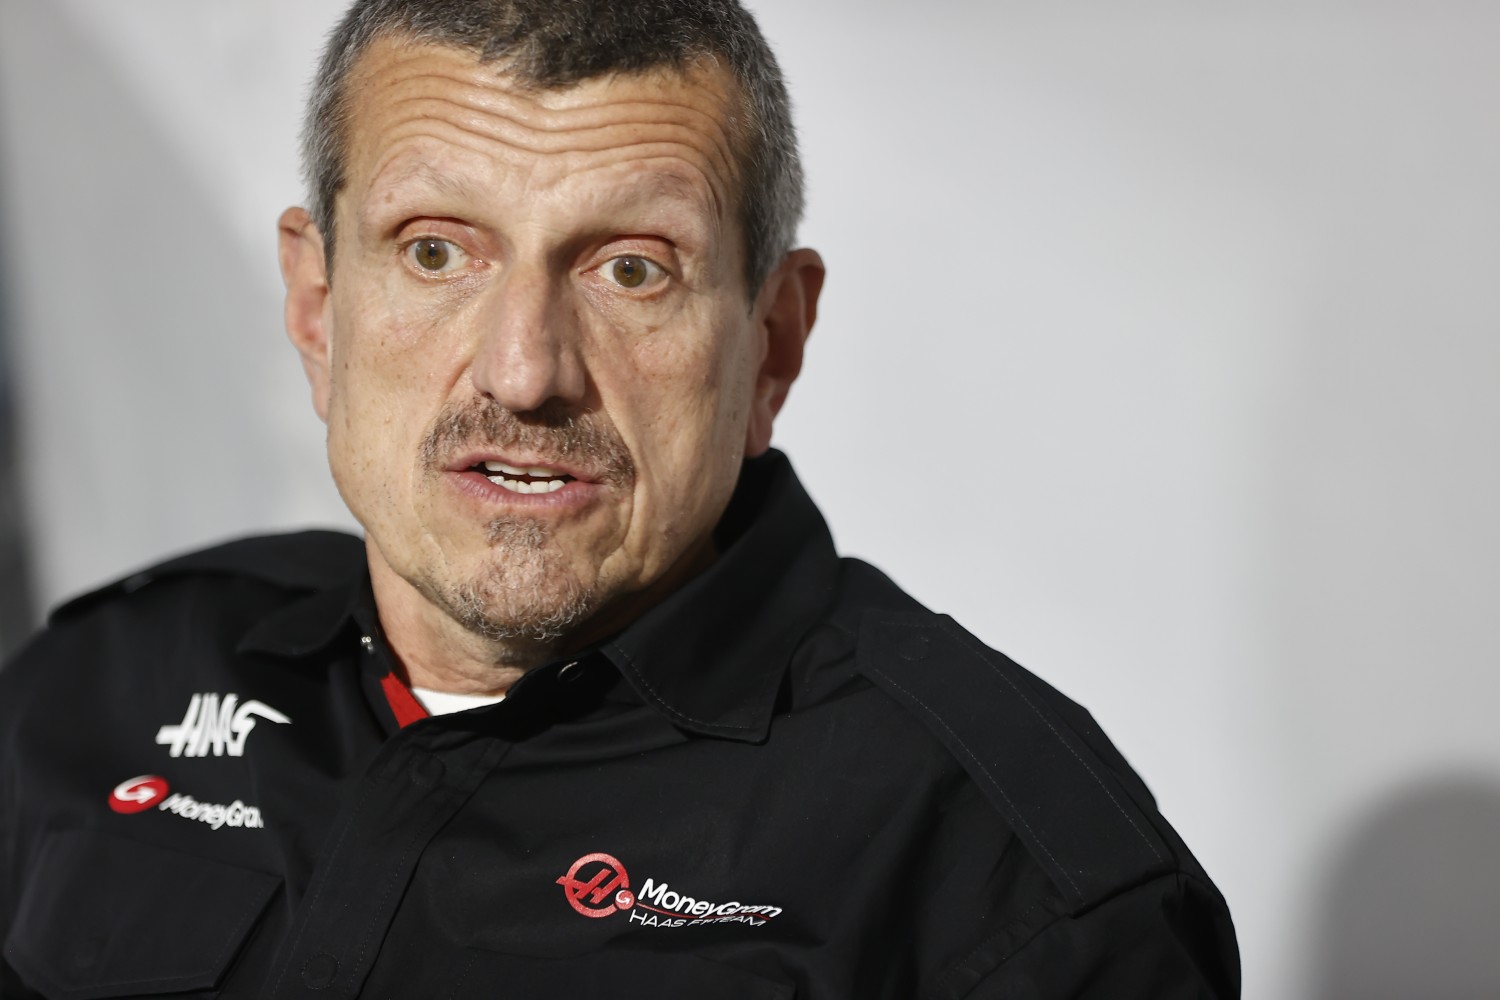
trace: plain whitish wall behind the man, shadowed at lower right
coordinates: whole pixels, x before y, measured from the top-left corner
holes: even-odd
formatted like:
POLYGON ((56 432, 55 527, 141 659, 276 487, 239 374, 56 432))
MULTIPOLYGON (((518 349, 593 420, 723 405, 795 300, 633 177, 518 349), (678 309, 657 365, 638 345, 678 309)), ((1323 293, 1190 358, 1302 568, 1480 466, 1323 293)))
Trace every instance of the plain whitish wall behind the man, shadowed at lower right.
MULTIPOLYGON (((46 603, 348 523, 273 240, 340 6, 0 0, 46 603)), ((842 547, 1094 709, 1246 997, 1500 996, 1500 6, 756 10, 830 262, 778 441, 842 547)))

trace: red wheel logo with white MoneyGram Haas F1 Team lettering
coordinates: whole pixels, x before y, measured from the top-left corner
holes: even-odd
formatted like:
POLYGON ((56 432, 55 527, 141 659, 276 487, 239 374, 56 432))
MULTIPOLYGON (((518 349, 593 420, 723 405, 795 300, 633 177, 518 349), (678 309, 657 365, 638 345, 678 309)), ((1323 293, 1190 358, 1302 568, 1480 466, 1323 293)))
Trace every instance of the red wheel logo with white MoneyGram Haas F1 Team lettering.
POLYGON ((765 927, 782 915, 778 906, 718 903, 696 900, 674 891, 666 882, 646 879, 636 894, 630 889, 626 867, 612 855, 584 855, 556 880, 568 906, 584 916, 630 913, 642 927, 702 927, 705 924, 746 924, 765 927))

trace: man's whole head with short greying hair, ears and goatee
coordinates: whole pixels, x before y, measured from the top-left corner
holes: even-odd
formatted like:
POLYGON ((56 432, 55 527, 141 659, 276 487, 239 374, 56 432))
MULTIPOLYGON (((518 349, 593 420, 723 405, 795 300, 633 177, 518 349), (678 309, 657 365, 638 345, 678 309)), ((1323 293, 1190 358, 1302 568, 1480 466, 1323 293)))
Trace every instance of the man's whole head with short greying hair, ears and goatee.
POLYGON ((322 75, 286 324, 393 642, 618 628, 712 558, 814 315, 764 40, 718 3, 374 0, 322 75))

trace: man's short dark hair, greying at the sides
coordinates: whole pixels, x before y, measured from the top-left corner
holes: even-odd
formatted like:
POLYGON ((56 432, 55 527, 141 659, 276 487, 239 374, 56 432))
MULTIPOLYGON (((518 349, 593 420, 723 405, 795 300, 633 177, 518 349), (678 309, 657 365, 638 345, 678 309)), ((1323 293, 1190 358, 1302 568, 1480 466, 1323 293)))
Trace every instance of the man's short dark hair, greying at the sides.
POLYGON ((802 214, 786 84, 754 18, 736 0, 356 0, 328 36, 303 123, 308 210, 333 271, 333 202, 345 184, 354 64, 380 37, 447 45, 504 61, 520 85, 552 90, 609 73, 729 69, 744 276, 752 301, 792 249, 802 214))

